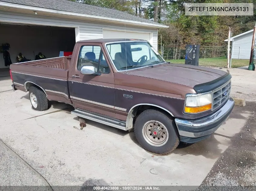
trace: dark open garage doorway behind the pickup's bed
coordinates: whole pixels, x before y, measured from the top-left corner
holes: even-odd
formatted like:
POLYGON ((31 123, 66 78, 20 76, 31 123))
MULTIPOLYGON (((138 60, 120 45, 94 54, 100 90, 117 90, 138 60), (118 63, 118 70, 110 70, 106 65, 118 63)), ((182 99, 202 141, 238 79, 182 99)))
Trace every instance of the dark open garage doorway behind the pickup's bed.
POLYGON ((60 55, 60 51, 72 52, 75 45, 75 28, 0 23, 0 77, 9 76, 9 65, 4 55, 10 54, 12 63, 22 53, 26 59, 35 60, 41 52, 46 58, 60 55), (10 47, 4 53, 2 45, 10 47))

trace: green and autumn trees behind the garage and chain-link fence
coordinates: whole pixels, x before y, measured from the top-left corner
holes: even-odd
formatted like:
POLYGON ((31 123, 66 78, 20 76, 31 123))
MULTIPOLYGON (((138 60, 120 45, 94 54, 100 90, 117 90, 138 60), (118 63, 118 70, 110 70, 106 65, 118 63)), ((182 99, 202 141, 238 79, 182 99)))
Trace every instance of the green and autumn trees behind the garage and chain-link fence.
MULTIPOLYGON (((169 26, 159 29, 165 46, 185 46, 193 43, 224 44, 228 27, 232 35, 251 30, 256 21, 256 6, 253 16, 186 16, 185 3, 241 3, 256 0, 71 0, 89 5, 96 5, 124 11, 138 17, 153 20, 169 26)), ((180 57, 176 48, 175 57, 180 57)))

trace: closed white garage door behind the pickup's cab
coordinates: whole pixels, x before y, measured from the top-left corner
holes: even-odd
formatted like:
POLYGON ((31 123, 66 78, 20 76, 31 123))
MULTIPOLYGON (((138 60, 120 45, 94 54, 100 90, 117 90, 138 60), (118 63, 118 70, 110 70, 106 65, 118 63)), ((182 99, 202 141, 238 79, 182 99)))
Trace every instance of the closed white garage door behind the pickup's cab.
POLYGON ((153 33, 132 32, 124 30, 110 30, 103 29, 103 38, 129 38, 129 39, 143 39, 150 44, 153 43, 153 33))

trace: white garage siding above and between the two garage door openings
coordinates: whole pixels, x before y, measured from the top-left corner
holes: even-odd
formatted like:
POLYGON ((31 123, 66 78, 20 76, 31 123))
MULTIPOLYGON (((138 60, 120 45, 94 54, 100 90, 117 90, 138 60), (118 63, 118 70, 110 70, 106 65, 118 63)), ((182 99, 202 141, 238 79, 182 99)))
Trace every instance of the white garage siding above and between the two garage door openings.
MULTIPOLYGON (((117 24, 108 24, 107 22, 90 22, 78 19, 64 19, 35 14, 16 13, 10 11, 0 11, 0 22, 37 24, 59 27, 79 27, 79 33, 76 40, 89 40, 103 38, 102 28, 129 30, 135 32, 146 32, 153 34, 152 46, 157 49, 157 29, 148 29, 143 27, 131 27, 117 24)), ((76 32, 78 32, 76 28, 76 32)))

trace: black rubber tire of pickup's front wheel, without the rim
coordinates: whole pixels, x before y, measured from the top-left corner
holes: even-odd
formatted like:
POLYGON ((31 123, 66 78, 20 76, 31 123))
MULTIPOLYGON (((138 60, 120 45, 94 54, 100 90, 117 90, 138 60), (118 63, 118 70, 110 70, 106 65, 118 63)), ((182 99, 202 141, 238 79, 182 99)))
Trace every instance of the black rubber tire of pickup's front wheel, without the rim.
POLYGON ((135 136, 139 144, 147 151, 157 153, 157 154, 168 154, 173 151, 179 145, 179 134, 176 128, 175 121, 171 119, 170 116, 167 116, 165 113, 162 113, 158 110, 145 110, 143 111, 136 119, 134 126, 135 136), (143 126, 145 123, 155 120, 162 123, 166 130, 168 131, 168 140, 162 146, 153 146, 150 145, 146 139, 143 137, 143 126))

